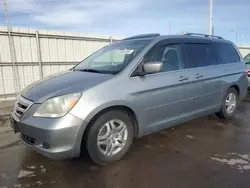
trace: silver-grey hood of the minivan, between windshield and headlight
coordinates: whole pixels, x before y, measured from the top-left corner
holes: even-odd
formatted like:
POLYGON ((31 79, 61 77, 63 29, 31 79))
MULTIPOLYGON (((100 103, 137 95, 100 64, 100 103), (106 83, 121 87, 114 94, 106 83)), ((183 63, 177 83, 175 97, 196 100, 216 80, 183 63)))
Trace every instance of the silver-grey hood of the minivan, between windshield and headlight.
POLYGON ((34 82, 21 95, 34 103, 42 103, 55 96, 82 92, 112 77, 114 75, 67 71, 34 82))

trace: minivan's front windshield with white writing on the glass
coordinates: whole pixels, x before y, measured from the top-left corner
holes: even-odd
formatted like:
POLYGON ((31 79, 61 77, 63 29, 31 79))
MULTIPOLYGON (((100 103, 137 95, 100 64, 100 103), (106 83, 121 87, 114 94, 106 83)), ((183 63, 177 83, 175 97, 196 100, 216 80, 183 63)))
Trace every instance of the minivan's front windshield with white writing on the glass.
POLYGON ((144 39, 113 43, 87 57, 77 65, 74 70, 117 74, 123 70, 150 41, 149 39, 144 39))

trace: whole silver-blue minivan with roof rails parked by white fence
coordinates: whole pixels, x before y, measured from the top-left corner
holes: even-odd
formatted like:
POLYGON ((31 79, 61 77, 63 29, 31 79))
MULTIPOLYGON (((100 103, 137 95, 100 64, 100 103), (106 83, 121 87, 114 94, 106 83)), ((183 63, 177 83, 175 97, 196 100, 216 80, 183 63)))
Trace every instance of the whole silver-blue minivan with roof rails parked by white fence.
POLYGON ((216 113, 231 118, 247 94, 238 49, 201 34, 126 38, 18 96, 11 125, 24 144, 54 159, 121 159, 134 138, 216 113))

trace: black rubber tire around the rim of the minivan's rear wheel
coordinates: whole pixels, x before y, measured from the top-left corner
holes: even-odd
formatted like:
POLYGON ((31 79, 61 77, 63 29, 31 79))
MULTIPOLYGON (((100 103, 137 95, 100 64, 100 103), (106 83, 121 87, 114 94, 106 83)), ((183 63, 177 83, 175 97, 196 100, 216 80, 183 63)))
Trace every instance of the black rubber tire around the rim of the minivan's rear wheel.
POLYGON ((237 109, 238 99, 239 99, 239 94, 236 91, 236 89, 229 88, 228 91, 226 92, 225 96, 223 97, 223 100, 222 100, 222 103, 221 103, 221 109, 220 109, 219 112, 216 113, 216 115, 221 119, 231 119, 234 116, 235 111, 237 109), (227 105, 226 105, 226 101, 229 99, 229 95, 234 95, 235 99, 236 99, 235 107, 231 112, 229 112, 227 110, 227 105))

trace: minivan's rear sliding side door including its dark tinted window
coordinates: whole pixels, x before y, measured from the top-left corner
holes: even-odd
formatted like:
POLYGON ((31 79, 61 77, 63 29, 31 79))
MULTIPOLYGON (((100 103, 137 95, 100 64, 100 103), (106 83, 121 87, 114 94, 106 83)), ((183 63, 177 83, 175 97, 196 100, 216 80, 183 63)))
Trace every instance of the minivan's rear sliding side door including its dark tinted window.
POLYGON ((209 40, 187 41, 183 44, 190 80, 196 88, 191 111, 196 115, 213 112, 220 107, 221 70, 213 43, 209 40))

